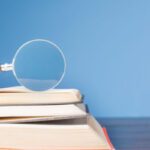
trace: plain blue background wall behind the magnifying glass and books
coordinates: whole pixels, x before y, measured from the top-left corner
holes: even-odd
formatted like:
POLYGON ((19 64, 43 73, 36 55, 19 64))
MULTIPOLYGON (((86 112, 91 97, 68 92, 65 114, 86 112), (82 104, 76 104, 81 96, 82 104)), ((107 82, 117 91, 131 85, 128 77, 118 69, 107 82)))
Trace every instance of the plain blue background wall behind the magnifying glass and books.
MULTIPOLYGON (((63 49, 59 88, 80 89, 95 116, 150 116, 149 0, 1 0, 0 63, 36 38, 63 49)), ((0 87, 11 85, 1 73, 0 87)))

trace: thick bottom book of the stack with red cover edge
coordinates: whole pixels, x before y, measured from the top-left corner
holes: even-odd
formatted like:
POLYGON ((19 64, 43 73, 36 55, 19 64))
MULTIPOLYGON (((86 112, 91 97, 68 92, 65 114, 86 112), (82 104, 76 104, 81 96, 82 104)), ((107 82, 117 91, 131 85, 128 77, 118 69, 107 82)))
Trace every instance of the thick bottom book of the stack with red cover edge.
POLYGON ((0 124, 0 147, 36 150, 112 150, 99 123, 90 115, 44 124, 0 124))

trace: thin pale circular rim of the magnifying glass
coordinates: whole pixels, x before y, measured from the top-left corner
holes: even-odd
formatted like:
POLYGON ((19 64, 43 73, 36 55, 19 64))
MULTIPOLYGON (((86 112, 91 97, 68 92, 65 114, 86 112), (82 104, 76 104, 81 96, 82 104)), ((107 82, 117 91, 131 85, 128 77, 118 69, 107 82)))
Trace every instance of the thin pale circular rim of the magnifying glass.
MULTIPOLYGON (((17 55, 19 54, 19 52, 21 51, 21 49, 22 49, 23 47, 25 47, 26 45, 28 45, 28 44, 30 44, 30 43, 32 43, 32 42, 38 42, 38 41, 47 42, 47 43, 53 45, 53 46, 58 50, 58 52, 60 52, 60 54, 61 54, 61 56, 62 56, 62 58, 63 58, 63 61, 64 61, 64 71, 63 71, 63 73, 62 73, 62 75, 61 75, 61 78, 59 79, 59 81, 58 81, 54 86, 52 86, 52 87, 49 88, 49 89, 54 89, 55 87, 57 87, 57 86, 61 83, 61 81, 62 81, 62 79, 64 78, 64 75, 65 75, 65 73, 66 73, 66 59, 65 59, 65 56, 64 56, 64 54, 63 54, 63 52, 62 52, 62 50, 61 50, 61 48, 60 48, 59 46, 57 46, 55 43, 53 43, 53 42, 51 42, 51 41, 49 41, 49 40, 46 40, 46 39, 33 39, 33 40, 30 40, 30 41, 27 41, 27 42, 25 42, 24 44, 22 44, 22 45, 17 49, 17 51, 16 51, 16 53, 15 53, 15 56, 14 56, 14 58, 13 58, 13 60, 12 60, 12 66, 13 66, 12 72, 13 72, 15 78, 17 79, 18 83, 19 83, 21 86, 25 87, 27 90, 30 90, 30 91, 34 91, 34 90, 27 88, 26 86, 24 86, 24 85, 19 81, 19 79, 18 79, 18 77, 17 77, 17 74, 16 74, 16 72, 15 72, 15 61, 16 61, 17 55)), ((49 90, 49 89, 42 90, 42 91, 47 91, 47 90, 49 90)), ((41 91, 41 92, 42 92, 42 91, 41 91)), ((39 92, 39 91, 35 91, 35 92, 39 92)))

